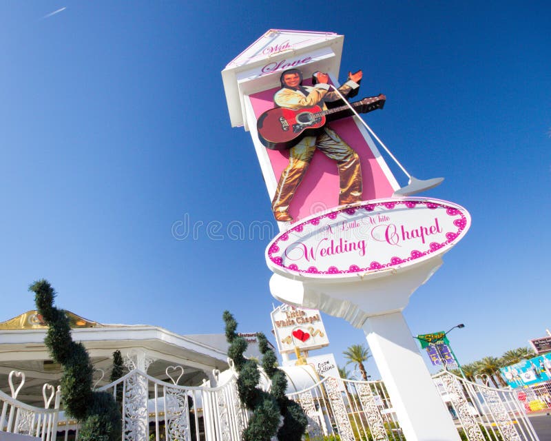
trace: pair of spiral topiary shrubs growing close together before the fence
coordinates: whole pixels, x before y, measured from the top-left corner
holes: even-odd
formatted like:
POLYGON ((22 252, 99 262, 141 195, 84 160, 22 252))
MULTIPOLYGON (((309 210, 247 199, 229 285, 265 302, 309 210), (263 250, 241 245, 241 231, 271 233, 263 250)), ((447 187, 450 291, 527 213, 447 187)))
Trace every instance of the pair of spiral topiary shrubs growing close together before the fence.
POLYGON ((300 441, 306 430, 306 416, 299 404, 285 396, 287 378, 278 369, 278 359, 268 345, 264 334, 257 334, 258 347, 262 353, 262 369, 271 379, 271 393, 258 389, 260 372, 253 360, 247 360, 243 353, 247 349, 245 338, 237 334, 236 319, 229 311, 224 311, 226 339, 229 343, 228 356, 233 359, 239 373, 238 391, 241 401, 247 409, 253 411, 249 418, 249 427, 243 431, 244 441, 270 441, 277 431, 280 441, 300 441), (280 417, 283 424, 278 430, 280 417))

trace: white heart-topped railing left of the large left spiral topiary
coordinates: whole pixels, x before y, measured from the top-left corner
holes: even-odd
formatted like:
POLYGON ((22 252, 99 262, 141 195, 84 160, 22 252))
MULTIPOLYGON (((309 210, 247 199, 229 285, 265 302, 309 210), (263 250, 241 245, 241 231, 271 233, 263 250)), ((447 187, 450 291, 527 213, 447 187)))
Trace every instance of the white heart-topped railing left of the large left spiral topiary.
POLYGON ((59 387, 54 389, 51 384, 44 384, 42 388, 44 408, 41 408, 17 400, 17 396, 25 384, 25 373, 11 371, 8 383, 11 396, 0 391, 0 431, 33 436, 42 441, 55 441, 61 399, 59 387), (14 377, 21 379, 17 387, 13 382, 14 377), (53 408, 49 409, 52 404, 53 408))

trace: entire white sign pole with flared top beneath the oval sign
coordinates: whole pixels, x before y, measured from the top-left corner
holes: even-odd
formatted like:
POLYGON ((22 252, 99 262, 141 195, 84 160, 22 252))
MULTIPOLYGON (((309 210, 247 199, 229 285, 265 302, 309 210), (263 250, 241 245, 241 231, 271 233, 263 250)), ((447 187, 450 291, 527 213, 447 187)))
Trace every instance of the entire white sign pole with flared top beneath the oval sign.
POLYGON ((408 441, 459 441, 402 310, 413 291, 440 267, 435 256, 392 274, 349 283, 298 281, 274 274, 271 294, 291 305, 318 307, 364 329, 400 427, 408 441))

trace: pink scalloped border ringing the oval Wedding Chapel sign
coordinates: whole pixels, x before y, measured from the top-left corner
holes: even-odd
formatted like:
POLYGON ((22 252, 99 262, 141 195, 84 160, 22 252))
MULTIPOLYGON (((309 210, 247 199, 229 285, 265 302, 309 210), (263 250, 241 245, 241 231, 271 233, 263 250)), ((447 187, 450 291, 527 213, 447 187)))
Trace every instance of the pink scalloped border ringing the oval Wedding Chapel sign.
POLYGON ((308 269, 298 269, 298 266, 292 263, 289 265, 289 267, 286 267, 285 265, 282 265, 282 258, 278 256, 273 256, 274 253, 277 253, 280 250, 280 247, 278 247, 278 243, 280 241, 285 242, 289 239, 289 234, 285 232, 282 234, 277 240, 274 241, 274 243, 271 245, 270 249, 268 250, 268 257, 269 259, 275 263, 275 265, 278 265, 279 267, 289 269, 291 271, 295 271, 302 274, 351 274, 351 273, 357 273, 357 272, 366 272, 366 271, 377 271, 380 269, 390 268, 394 267, 396 265, 400 265, 402 263, 410 262, 412 260, 422 258, 424 256, 428 256, 428 254, 433 254, 437 250, 441 249, 442 247, 445 247, 446 245, 449 245, 452 243, 458 236, 461 234, 461 232, 465 229, 467 225, 467 218, 461 210, 450 207, 449 205, 444 205, 441 203, 435 203, 432 201, 386 201, 386 202, 379 202, 379 203, 369 203, 366 205, 359 205, 357 207, 346 207, 340 210, 337 210, 336 212, 330 212, 327 214, 323 214, 322 216, 318 216, 316 218, 312 218, 309 220, 306 220, 298 225, 295 225, 293 228, 289 229, 289 232, 302 232, 304 229, 304 225, 311 224, 311 225, 320 225, 320 220, 323 218, 329 218, 331 220, 335 220, 337 216, 341 213, 346 213, 352 216, 357 212, 357 210, 364 209, 366 212, 373 212, 375 207, 377 206, 383 206, 386 209, 394 209, 397 207, 397 205, 405 205, 408 208, 415 208, 419 204, 424 204, 428 209, 437 209, 438 207, 442 207, 446 209, 446 214, 448 216, 457 216, 459 215, 459 218, 453 221, 453 225, 457 227, 457 232, 448 232, 446 233, 446 242, 444 243, 436 243, 431 242, 429 244, 429 249, 426 252, 419 252, 416 249, 414 249, 408 258, 402 259, 399 257, 393 257, 391 258, 390 262, 388 263, 379 263, 376 261, 373 261, 369 264, 368 267, 360 268, 357 265, 351 265, 349 269, 338 269, 337 267, 331 266, 327 269, 327 271, 320 271, 316 267, 309 267, 308 269))

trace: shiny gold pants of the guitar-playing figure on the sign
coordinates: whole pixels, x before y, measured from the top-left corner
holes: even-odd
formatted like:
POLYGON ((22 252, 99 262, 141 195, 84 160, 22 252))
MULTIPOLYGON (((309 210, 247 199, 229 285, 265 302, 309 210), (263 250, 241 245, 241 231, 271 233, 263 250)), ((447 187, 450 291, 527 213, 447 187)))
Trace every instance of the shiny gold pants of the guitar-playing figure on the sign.
POLYGON ((289 165, 283 170, 273 196, 273 212, 287 212, 291 199, 313 158, 316 148, 337 163, 339 170, 339 205, 362 200, 360 156, 329 127, 318 136, 304 138, 289 150, 289 165))

